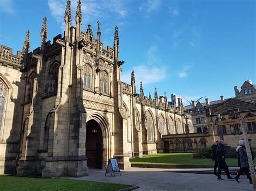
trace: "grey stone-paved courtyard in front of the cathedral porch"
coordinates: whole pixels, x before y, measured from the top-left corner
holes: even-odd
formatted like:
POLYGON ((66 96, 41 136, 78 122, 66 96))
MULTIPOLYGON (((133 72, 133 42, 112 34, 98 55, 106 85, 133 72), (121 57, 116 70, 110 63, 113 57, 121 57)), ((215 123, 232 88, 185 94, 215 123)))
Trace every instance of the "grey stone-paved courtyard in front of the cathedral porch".
MULTIPOLYGON (((177 169, 178 171, 178 169, 177 169)), ((90 169, 89 176, 69 178, 75 180, 89 180, 98 182, 121 183, 138 186, 137 190, 253 190, 246 176, 240 176, 240 183, 226 180, 218 181, 212 174, 194 174, 170 172, 170 169, 131 168, 121 171, 121 176, 105 177, 105 171, 90 169)))

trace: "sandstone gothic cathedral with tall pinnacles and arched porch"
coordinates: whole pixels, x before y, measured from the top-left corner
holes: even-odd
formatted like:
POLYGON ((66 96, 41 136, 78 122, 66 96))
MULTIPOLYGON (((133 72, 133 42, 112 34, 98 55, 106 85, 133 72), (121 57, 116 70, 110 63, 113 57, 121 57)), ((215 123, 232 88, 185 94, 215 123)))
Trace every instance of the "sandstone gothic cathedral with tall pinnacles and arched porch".
POLYGON ((118 27, 113 47, 104 49, 89 24, 81 31, 81 2, 76 26, 66 3, 64 36, 47 41, 43 19, 41 46, 30 52, 30 32, 22 52, 0 45, 0 173, 19 176, 84 176, 88 168, 106 168, 117 158, 129 159, 165 152, 163 135, 194 132, 182 100, 166 94, 144 96, 121 81, 118 27))

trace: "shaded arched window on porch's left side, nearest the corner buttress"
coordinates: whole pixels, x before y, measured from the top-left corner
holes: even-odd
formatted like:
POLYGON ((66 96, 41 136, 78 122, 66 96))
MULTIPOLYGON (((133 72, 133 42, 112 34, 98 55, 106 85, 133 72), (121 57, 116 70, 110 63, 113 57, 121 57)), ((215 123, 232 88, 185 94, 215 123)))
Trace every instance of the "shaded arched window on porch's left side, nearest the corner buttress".
POLYGON ((59 74, 59 65, 58 63, 53 63, 52 67, 50 68, 50 83, 49 83, 49 94, 57 94, 58 89, 58 74, 59 74))

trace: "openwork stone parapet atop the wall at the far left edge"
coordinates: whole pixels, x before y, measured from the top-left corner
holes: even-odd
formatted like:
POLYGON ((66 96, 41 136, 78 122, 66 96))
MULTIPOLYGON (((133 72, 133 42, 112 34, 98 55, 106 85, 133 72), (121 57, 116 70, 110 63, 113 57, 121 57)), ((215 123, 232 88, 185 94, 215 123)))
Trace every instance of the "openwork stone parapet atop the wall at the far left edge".
POLYGON ((22 58, 22 52, 18 51, 16 55, 13 55, 12 48, 0 45, 0 65, 20 69, 22 58))

